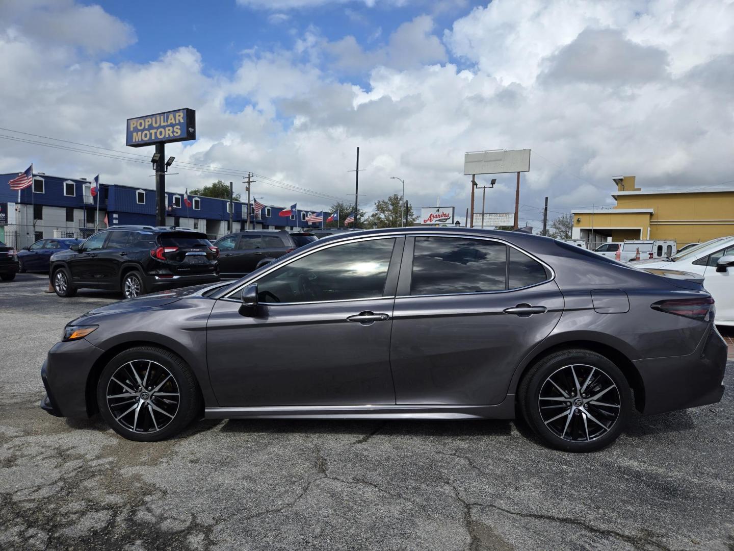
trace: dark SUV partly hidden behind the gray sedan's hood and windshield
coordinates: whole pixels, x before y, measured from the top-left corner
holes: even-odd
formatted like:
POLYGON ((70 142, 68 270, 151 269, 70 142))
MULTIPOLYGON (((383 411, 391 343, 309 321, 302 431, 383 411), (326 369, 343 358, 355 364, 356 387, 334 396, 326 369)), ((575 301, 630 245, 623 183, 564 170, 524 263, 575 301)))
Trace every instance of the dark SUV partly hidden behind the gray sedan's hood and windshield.
POLYGON ((309 231, 246 230, 225 235, 214 242, 220 251, 219 272, 239 278, 317 239, 309 231))

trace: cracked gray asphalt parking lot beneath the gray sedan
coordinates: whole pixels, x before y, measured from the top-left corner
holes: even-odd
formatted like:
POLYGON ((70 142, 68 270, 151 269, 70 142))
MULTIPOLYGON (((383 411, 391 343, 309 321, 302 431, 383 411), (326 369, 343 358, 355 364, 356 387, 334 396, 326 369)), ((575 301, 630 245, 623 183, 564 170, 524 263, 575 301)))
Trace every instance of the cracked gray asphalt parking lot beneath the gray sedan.
POLYGON ((0 284, 0 548, 731 550, 734 386, 570 455, 522 422, 200 421, 168 442, 40 410, 65 323, 118 300, 0 284))

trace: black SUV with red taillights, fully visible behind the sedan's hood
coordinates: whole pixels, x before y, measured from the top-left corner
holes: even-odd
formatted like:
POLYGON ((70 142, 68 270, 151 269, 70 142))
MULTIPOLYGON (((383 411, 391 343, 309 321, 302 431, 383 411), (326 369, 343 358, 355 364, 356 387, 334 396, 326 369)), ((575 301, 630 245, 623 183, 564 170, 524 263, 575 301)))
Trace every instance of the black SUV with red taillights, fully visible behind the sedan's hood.
POLYGON ((76 289, 122 291, 125 298, 219 281, 219 251, 206 234, 185 228, 115 226, 51 256, 59 297, 76 289))

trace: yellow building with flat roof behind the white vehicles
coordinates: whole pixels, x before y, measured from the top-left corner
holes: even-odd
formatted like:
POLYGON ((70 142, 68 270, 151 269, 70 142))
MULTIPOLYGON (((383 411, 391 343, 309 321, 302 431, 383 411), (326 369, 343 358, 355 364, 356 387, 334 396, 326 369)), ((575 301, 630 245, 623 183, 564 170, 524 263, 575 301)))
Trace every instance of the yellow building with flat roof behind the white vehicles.
POLYGON ((614 184, 614 207, 573 212, 573 239, 589 248, 639 239, 675 240, 680 248, 734 235, 734 188, 644 192, 634 176, 617 176, 614 184))

